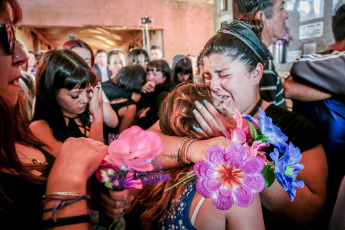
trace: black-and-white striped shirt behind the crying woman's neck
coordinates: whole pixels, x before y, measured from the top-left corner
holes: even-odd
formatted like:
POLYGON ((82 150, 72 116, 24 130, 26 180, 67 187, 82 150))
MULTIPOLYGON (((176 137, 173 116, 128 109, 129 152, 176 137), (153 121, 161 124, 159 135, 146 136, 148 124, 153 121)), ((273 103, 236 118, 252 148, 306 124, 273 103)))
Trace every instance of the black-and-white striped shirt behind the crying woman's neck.
POLYGON ((283 84, 272 63, 268 60, 264 66, 264 72, 260 81, 260 96, 265 101, 276 106, 285 108, 285 98, 283 95, 283 84))

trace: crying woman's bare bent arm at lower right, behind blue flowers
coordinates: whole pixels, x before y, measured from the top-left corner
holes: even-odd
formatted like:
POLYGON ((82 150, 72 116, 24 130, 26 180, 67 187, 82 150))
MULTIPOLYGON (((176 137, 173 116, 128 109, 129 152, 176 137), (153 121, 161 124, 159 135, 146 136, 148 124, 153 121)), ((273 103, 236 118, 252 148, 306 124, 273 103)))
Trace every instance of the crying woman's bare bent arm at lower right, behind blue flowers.
POLYGON ((302 226, 308 226, 319 215, 326 202, 328 168, 322 145, 302 152, 300 164, 304 165, 304 169, 298 173, 297 180, 303 180, 305 186, 296 189, 294 201, 291 202, 277 180, 270 187, 265 187, 260 197, 266 209, 286 216, 302 226))

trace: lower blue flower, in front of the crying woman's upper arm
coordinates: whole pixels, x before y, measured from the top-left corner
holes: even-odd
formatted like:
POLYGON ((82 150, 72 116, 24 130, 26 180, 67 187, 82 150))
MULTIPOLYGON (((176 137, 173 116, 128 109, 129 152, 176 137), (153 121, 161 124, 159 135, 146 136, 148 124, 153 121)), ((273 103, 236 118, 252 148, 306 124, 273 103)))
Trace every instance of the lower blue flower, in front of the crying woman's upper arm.
POLYGON ((296 188, 304 187, 304 181, 296 180, 297 173, 304 168, 302 164, 299 164, 302 159, 300 149, 290 143, 280 159, 277 149, 270 153, 270 157, 275 161, 274 174, 277 181, 284 187, 291 201, 293 201, 296 196, 296 188))

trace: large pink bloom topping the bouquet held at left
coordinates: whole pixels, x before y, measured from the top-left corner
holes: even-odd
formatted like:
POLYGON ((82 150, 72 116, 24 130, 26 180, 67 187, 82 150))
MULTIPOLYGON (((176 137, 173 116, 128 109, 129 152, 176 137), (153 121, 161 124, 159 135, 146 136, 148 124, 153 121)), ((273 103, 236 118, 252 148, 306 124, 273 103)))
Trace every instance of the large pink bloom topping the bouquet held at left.
POLYGON ((110 143, 108 155, 104 160, 117 167, 126 166, 147 172, 153 170, 151 160, 162 151, 163 143, 156 133, 132 126, 110 143))

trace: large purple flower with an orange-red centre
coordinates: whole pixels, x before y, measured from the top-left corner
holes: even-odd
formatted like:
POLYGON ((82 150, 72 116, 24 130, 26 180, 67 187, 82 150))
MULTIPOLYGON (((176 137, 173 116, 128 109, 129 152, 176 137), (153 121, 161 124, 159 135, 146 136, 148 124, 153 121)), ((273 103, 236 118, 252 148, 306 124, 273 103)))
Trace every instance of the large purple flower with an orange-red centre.
POLYGON ((248 207, 253 203, 254 193, 264 189, 263 161, 259 157, 248 157, 241 144, 232 144, 227 149, 212 146, 206 158, 194 166, 198 178, 196 189, 203 197, 212 198, 218 209, 227 210, 234 203, 248 207))

